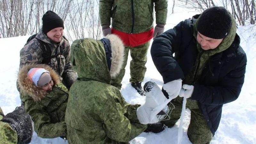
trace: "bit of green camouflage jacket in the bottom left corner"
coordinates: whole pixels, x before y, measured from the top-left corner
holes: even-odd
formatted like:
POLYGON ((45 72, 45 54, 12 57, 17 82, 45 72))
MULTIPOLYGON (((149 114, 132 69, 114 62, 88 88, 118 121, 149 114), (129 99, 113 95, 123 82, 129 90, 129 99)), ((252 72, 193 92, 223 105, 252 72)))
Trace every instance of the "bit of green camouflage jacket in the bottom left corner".
MULTIPOLYGON (((3 118, 3 111, 0 107, 0 120, 3 118)), ((18 134, 8 123, 0 121, 0 143, 1 144, 17 144, 18 134)))

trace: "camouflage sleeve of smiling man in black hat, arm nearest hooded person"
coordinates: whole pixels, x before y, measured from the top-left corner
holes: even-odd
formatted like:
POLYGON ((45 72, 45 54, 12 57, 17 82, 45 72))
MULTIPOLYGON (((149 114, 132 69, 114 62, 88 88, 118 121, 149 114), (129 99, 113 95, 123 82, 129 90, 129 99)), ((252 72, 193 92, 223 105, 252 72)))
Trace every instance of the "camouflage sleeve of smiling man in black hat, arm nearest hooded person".
POLYGON ((70 62, 70 45, 68 41, 66 41, 66 52, 64 53, 65 57, 65 67, 64 67, 64 72, 62 74, 62 78, 64 80, 64 83, 67 85, 68 89, 70 86, 75 82, 77 75, 76 72, 72 69, 72 65, 70 62))

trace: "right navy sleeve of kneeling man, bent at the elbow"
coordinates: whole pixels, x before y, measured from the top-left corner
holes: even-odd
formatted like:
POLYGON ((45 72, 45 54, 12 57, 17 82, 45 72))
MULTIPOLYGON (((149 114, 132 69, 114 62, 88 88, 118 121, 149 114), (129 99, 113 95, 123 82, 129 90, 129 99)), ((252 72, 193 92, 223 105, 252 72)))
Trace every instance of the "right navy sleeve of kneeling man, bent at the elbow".
POLYGON ((237 54, 236 59, 238 59, 236 67, 220 79, 219 85, 204 86, 195 84, 190 99, 197 100, 200 103, 214 105, 222 105, 236 100, 244 84, 247 63, 245 53, 237 54))

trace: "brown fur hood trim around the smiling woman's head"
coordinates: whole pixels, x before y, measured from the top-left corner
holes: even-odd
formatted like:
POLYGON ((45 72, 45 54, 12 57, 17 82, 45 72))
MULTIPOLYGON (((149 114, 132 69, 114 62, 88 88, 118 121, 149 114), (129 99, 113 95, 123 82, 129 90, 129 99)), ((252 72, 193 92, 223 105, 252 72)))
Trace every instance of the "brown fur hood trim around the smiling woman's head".
POLYGON ((60 83, 60 76, 48 65, 45 64, 28 64, 24 65, 18 73, 18 84, 20 92, 28 94, 34 101, 39 101, 47 95, 47 92, 37 87, 28 78, 27 74, 31 68, 44 68, 50 72, 53 85, 60 83))

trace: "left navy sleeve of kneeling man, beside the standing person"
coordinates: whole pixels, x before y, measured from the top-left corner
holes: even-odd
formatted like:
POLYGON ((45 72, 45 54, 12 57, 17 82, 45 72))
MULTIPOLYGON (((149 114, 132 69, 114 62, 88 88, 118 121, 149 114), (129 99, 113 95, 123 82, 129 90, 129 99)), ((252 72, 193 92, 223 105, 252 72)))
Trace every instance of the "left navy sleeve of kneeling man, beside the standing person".
POLYGON ((162 75, 164 84, 184 78, 182 69, 173 57, 173 53, 179 51, 182 43, 183 22, 157 36, 151 46, 152 60, 162 75))

